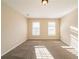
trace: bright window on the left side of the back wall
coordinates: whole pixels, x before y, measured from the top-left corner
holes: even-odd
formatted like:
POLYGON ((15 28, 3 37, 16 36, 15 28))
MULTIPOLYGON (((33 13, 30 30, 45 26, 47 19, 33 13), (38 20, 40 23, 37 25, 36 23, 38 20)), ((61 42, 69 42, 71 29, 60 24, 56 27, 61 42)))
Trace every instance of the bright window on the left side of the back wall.
POLYGON ((32 23, 32 35, 40 35, 40 23, 39 22, 32 23))

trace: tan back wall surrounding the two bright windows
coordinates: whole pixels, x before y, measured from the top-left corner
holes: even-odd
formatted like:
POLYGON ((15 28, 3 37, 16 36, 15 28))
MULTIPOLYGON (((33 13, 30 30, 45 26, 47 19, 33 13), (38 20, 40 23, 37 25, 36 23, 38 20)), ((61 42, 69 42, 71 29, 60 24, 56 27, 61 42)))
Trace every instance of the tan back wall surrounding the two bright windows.
POLYGON ((60 38, 60 19, 28 18, 28 39, 57 39, 60 38), (32 35, 32 22, 40 22, 40 35, 32 35), (56 35, 48 36, 48 22, 56 22, 56 35))

